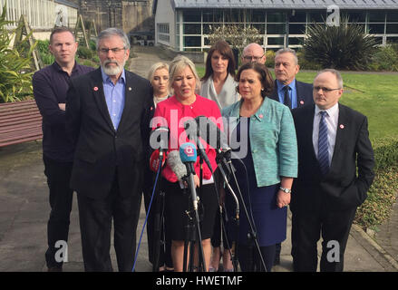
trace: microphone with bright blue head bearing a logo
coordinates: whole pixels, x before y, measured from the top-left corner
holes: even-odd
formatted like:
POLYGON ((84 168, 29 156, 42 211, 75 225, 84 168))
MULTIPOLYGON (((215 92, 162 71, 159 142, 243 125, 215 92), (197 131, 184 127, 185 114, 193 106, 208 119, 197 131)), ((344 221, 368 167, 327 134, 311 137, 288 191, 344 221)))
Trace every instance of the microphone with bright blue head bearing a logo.
POLYGON ((195 180, 193 176, 196 174, 193 164, 196 162, 197 153, 195 145, 187 142, 180 146, 180 159, 185 164, 188 172, 188 185, 192 198, 193 209, 197 212, 198 210, 198 196, 195 189, 195 180))

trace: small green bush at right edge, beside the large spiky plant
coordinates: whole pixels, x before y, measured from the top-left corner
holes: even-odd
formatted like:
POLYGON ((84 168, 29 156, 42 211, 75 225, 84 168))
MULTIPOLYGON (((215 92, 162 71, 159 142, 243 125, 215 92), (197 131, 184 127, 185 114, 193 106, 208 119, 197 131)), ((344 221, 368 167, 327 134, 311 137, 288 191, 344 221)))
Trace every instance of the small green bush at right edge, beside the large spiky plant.
POLYGON ((370 69, 398 72, 398 46, 395 44, 379 47, 374 53, 370 69))

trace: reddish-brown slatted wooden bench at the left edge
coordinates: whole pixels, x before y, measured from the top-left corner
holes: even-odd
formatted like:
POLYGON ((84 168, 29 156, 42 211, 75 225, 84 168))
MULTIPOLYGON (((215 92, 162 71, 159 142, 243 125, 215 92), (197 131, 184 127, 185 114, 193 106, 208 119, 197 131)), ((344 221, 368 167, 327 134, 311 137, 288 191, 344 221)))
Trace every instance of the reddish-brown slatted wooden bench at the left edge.
POLYGON ((34 100, 0 103, 0 147, 42 138, 42 115, 34 100))

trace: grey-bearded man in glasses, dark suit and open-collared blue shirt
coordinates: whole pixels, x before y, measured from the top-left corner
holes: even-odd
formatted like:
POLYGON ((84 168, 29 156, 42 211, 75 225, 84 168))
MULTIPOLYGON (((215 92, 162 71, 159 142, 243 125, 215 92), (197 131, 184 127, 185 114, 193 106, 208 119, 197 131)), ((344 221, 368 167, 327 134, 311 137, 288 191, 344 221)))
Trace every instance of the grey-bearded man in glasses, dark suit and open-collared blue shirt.
POLYGON ((71 186, 77 192, 85 271, 112 271, 112 221, 119 271, 131 271, 146 165, 145 115, 150 82, 124 65, 130 42, 120 29, 98 35, 101 67, 73 79, 67 131, 75 144, 71 186))

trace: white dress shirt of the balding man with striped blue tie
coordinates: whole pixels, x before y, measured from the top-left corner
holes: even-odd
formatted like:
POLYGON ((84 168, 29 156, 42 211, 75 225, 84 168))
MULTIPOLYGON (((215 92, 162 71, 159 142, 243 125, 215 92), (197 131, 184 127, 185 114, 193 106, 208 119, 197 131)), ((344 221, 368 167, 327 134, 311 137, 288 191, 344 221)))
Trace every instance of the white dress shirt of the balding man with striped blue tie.
MULTIPOLYGON (((319 121, 321 121, 321 114, 318 106, 315 105, 314 115, 314 127, 312 133, 312 140, 314 144, 314 150, 316 158, 318 157, 318 137, 319 137, 319 121)), ((331 108, 325 110, 327 115, 325 116, 325 122, 327 126, 327 140, 329 141, 329 167, 332 163, 333 152, 335 151, 335 135, 337 133, 337 122, 338 122, 338 102, 331 108)))

